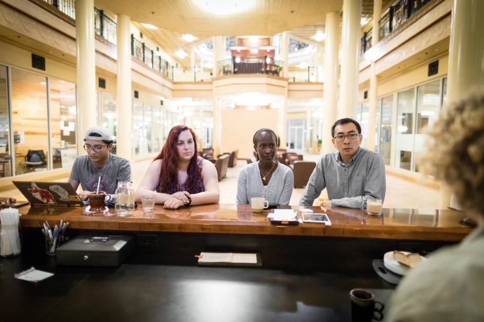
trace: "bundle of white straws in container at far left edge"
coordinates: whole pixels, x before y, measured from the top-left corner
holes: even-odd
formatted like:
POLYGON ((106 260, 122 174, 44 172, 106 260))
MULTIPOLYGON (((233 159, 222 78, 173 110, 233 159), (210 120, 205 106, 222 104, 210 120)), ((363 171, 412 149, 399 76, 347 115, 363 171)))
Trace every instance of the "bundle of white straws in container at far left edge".
POLYGON ((15 208, 0 211, 0 255, 20 254, 19 210, 15 208))

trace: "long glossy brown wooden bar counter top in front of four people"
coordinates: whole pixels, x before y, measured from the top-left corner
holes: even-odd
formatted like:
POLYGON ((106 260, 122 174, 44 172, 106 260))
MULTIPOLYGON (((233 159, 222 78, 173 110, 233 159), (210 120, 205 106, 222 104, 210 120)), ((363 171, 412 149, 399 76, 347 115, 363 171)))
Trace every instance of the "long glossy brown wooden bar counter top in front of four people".
MULTIPOLYGON (((309 208, 321 212, 319 207, 309 208)), ((266 218, 268 210, 256 214, 250 205, 236 204, 208 204, 180 210, 156 205, 153 211, 143 211, 140 205, 130 217, 116 217, 114 209, 110 209, 111 216, 86 215, 85 207, 22 207, 19 212, 22 227, 40 228, 44 220, 54 225, 62 219, 74 229, 106 231, 459 241, 472 230, 462 223, 467 217, 464 212, 434 209, 384 209, 381 217, 374 217, 359 209, 336 207, 327 211, 332 226, 274 225, 266 218)))

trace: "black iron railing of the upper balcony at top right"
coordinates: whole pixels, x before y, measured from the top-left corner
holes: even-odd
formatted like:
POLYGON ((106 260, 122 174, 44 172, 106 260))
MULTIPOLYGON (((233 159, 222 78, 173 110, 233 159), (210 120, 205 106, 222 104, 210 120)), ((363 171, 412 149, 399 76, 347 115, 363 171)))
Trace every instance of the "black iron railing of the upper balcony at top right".
MULTIPOLYGON (((380 40, 395 31, 402 23, 413 16, 424 5, 432 0, 399 0, 388 8, 381 16, 379 24, 380 40)), ((363 54, 372 47, 372 30, 361 37, 361 50, 363 54)))

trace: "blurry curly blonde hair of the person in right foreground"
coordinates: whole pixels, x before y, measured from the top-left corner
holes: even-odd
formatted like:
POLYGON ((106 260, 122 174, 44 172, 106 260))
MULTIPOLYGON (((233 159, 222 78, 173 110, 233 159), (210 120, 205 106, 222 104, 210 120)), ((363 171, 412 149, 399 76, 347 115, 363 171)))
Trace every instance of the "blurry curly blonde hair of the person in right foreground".
POLYGON ((428 135, 423 172, 450 186, 466 210, 484 216, 484 87, 444 107, 428 135))

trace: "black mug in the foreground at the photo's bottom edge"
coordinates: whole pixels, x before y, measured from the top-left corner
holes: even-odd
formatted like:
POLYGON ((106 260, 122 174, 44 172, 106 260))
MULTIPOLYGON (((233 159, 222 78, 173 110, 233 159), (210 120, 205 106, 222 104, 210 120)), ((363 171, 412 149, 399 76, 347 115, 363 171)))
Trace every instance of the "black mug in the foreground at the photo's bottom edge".
POLYGON ((350 291, 351 298, 351 321, 370 322, 383 319, 385 305, 375 300, 375 296, 362 288, 354 288, 350 291), (380 307, 376 305, 379 304, 380 307))

